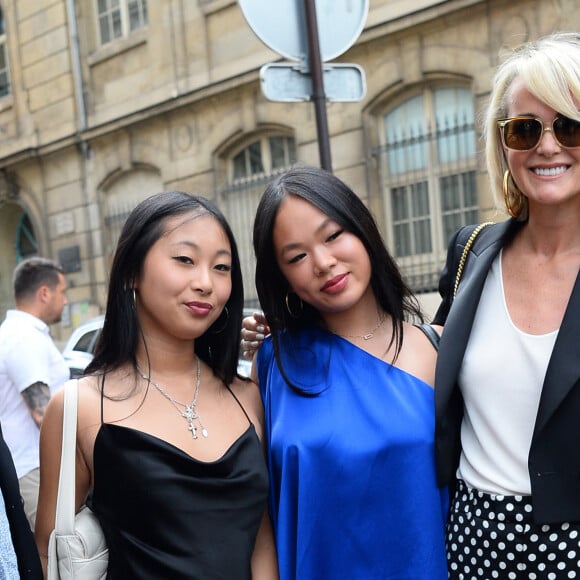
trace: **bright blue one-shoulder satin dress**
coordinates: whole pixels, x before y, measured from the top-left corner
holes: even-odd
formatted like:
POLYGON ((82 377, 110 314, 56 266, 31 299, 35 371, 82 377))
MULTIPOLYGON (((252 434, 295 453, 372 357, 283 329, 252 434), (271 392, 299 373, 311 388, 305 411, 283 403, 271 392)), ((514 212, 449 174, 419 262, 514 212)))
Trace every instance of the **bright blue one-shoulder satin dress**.
POLYGON ((434 392, 319 328, 258 354, 282 580, 447 578, 434 392))

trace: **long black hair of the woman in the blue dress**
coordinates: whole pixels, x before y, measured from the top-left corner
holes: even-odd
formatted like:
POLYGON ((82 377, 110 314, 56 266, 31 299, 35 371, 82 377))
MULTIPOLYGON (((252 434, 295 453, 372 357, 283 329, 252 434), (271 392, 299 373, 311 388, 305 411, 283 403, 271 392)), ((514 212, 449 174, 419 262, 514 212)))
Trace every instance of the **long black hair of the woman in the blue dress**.
MULTIPOLYGON (((419 303, 404 282, 393 257, 387 251, 375 219, 362 200, 332 173, 310 166, 296 166, 271 181, 264 191, 254 221, 256 289, 260 305, 272 331, 274 353, 286 382, 280 358, 282 331, 299 330, 322 324, 318 310, 304 303, 300 308, 286 297, 291 288, 276 259, 273 231, 281 202, 287 196, 301 198, 317 207, 340 227, 354 234, 364 245, 371 263, 371 287, 380 307, 393 322, 390 345, 395 344, 395 359, 403 343, 403 321, 422 321, 419 303)), ((300 389, 298 389, 300 390, 300 389)))

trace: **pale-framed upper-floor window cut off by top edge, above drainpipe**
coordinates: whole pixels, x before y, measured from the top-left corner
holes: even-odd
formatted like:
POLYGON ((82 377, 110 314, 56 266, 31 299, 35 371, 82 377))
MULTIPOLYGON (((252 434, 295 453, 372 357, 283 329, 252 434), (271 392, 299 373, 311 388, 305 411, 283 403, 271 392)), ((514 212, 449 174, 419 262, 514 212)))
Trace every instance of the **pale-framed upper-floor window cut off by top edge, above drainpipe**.
POLYGON ((147 26, 147 0, 97 0, 101 44, 147 26))

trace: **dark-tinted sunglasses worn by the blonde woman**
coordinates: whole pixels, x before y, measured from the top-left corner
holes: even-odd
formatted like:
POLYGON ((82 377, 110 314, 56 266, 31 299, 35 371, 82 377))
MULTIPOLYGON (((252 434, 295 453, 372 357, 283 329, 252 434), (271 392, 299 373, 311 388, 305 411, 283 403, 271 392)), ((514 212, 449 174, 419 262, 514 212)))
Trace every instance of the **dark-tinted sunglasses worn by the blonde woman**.
POLYGON ((538 145, 544 131, 551 131, 554 139, 568 149, 580 147, 580 123, 568 117, 558 116, 552 126, 544 125, 536 117, 512 117, 497 122, 501 140, 508 149, 529 151, 538 145))

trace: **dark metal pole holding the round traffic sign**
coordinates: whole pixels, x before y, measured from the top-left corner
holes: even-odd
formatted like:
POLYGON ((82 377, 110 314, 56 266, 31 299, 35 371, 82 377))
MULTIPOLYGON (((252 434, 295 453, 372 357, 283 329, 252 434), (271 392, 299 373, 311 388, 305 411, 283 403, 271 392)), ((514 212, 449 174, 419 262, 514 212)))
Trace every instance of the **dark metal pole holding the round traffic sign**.
POLYGON ((306 30, 308 33, 308 58, 312 76, 312 100, 316 115, 316 132, 318 136, 318 152, 322 169, 332 172, 330 155, 330 138, 328 134, 328 118, 326 115, 326 95, 324 94, 324 76, 322 74, 322 59, 320 57, 320 42, 318 38, 318 23, 316 20, 315 0, 304 0, 306 15, 306 30))

